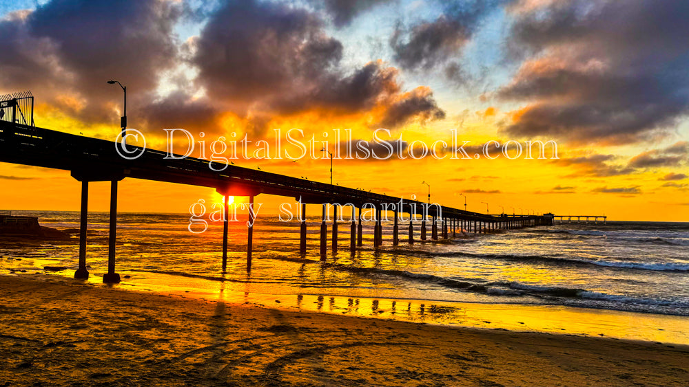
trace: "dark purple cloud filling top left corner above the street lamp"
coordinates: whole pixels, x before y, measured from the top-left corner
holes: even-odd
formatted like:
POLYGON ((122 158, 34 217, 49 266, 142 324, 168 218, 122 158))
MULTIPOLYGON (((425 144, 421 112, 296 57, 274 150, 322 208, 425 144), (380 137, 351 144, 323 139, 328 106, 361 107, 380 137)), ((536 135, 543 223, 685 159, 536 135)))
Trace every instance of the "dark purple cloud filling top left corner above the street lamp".
MULTIPOLYGON (((141 106, 158 74, 176 63, 173 1, 52 0, 22 17, 0 21, 0 84, 6 91, 34 89, 49 102, 87 121, 116 120, 112 107, 128 88, 141 106)), ((116 115, 115 115, 116 116, 116 115)))

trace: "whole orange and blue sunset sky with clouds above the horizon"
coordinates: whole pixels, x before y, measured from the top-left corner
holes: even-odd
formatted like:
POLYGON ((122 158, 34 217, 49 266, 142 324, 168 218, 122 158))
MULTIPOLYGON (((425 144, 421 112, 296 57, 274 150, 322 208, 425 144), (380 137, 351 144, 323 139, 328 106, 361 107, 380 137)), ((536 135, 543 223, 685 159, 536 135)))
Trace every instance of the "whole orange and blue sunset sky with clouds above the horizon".
MULTIPOLYGON (((407 157, 334 159, 334 184, 424 199, 425 181, 433 202, 466 197, 476 212, 688 221, 688 16, 681 0, 4 0, 0 94, 32 91, 39 127, 114 140, 122 91, 105 81, 119 80, 128 127, 163 150, 163 129, 185 129, 192 157, 220 137, 274 144, 278 129, 331 151, 351 129, 380 154, 386 129, 407 157), (452 157, 453 130, 470 157, 452 157), (439 140, 438 157, 420 157, 439 140), (517 157, 515 144, 551 140, 557 158, 517 157)), ((328 182, 316 156, 232 162, 328 182)), ((79 210, 69 171, 3 163, 0 186, 3 208, 79 210)), ((89 209, 106 211, 108 192, 91 184, 89 209)), ((135 179, 119 192, 124 212, 220 200, 135 179)), ((256 201, 277 212, 291 198, 256 201)))

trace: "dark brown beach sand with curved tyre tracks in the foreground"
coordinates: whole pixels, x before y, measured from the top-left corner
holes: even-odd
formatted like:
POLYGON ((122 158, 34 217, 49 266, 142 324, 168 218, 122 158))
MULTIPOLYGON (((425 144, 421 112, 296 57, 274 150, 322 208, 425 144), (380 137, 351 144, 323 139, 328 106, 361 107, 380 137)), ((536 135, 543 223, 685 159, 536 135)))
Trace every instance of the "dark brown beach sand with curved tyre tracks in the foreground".
POLYGON ((283 311, 0 276, 0 381, 686 386, 689 346, 283 311))

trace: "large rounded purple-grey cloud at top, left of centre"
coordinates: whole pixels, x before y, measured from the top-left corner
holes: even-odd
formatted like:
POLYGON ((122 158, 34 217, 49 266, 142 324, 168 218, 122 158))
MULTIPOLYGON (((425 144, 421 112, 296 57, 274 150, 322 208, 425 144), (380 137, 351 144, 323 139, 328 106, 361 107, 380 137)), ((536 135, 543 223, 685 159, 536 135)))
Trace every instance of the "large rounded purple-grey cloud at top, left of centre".
POLYGON ((195 45, 192 61, 209 96, 245 103, 313 87, 342 57, 315 14, 257 1, 226 1, 195 45))

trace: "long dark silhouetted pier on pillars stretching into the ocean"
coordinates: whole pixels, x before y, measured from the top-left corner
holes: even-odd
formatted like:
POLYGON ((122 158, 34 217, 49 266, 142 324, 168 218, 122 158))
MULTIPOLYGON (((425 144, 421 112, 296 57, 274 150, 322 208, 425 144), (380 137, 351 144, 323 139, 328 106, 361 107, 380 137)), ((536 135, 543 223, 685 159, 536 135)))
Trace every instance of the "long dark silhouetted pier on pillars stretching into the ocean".
MULTIPOLYGON (((338 210, 356 208, 356 217, 350 223, 350 250, 355 252, 362 246, 362 211, 375 212, 373 245, 380 247, 384 238, 382 219, 393 212, 393 245, 400 243, 399 218, 401 214, 421 214, 420 240, 448 239, 457 232, 493 232, 535 225, 551 225, 553 214, 544 215, 506 215, 493 216, 451 208, 448 206, 426 206, 420 201, 404 201, 400 198, 380 195, 374 192, 356 190, 342 186, 298 179, 263 170, 253 170, 229 165, 223 171, 209 168, 209 161, 186 157, 183 159, 163 159, 165 152, 147 149, 136 159, 124 159, 115 150, 114 142, 41 129, 17 122, 0 121, 0 162, 70 170, 74 179, 81 181, 81 232, 79 245, 79 269, 76 278, 88 278, 86 267, 86 225, 88 213, 88 184, 90 181, 110 181, 110 230, 108 245, 107 274, 103 282, 119 282, 115 271, 115 241, 117 225, 117 185, 125 178, 165 181, 176 184, 212 187, 221 195, 248 197, 254 203, 256 195, 278 195, 301 199, 302 217, 300 220, 300 252, 307 252, 306 204, 322 204, 320 223, 320 255, 327 255, 327 206, 334 206, 336 217, 332 222, 332 249, 338 247, 338 210)), ((128 146, 129 148, 137 148, 128 146)), ((227 203, 227 200, 225 200, 227 203)), ((351 213, 351 210, 349 211, 351 213)), ((227 214, 227 204, 225 205, 227 214)), ((251 215, 249 215, 251 217, 251 215)), ((385 218, 387 219, 387 218, 385 218)), ((227 222, 223 227, 223 269, 227 265, 227 222)), ((415 243, 415 222, 409 223, 407 243, 415 243)), ((251 269, 253 225, 248 228, 247 270, 251 269)))

